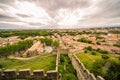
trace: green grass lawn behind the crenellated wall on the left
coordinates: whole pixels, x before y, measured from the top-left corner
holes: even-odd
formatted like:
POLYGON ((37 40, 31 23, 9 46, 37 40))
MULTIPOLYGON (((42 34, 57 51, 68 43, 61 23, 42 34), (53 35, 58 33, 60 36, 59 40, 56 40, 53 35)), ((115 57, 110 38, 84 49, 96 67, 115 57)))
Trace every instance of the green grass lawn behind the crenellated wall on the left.
POLYGON ((2 69, 55 69, 56 56, 52 54, 42 54, 36 58, 30 60, 18 60, 18 59, 0 59, 0 68, 2 69))

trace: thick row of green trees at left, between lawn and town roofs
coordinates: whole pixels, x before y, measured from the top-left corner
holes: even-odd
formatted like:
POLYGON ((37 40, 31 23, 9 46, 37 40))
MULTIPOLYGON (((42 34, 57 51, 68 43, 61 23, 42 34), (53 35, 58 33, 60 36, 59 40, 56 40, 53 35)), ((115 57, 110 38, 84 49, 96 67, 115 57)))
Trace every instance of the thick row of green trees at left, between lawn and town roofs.
POLYGON ((17 44, 11 44, 4 47, 0 47, 0 57, 7 57, 10 54, 14 54, 15 52, 19 52, 22 50, 26 50, 31 47, 33 44, 32 40, 20 41, 17 44))

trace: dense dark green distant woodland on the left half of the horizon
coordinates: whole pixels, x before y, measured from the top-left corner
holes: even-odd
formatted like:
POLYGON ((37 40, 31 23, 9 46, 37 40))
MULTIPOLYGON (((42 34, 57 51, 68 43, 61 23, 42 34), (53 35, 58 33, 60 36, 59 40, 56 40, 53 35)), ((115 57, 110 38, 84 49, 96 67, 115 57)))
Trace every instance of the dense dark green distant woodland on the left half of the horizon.
POLYGON ((52 32, 44 30, 0 31, 0 37, 2 38, 19 36, 21 39, 24 39, 28 36, 47 36, 52 34, 52 32))

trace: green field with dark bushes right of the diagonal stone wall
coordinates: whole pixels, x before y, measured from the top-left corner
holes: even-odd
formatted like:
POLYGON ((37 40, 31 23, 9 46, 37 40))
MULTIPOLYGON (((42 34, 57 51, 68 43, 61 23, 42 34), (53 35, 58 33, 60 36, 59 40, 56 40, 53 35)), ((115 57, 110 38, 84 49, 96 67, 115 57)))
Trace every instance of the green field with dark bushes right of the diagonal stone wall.
POLYGON ((95 55, 91 51, 87 53, 81 52, 76 54, 85 67, 95 76, 100 75, 106 80, 119 80, 120 76, 120 57, 113 54, 102 54, 96 52, 95 55), (103 59, 102 55, 109 56, 103 59))

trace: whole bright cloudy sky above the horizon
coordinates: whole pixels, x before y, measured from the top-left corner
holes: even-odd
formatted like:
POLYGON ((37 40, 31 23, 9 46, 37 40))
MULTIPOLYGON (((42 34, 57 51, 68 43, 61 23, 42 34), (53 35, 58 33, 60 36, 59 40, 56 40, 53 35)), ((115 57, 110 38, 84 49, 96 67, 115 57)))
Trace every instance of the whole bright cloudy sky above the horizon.
POLYGON ((120 25, 120 0, 0 0, 0 29, 120 25))

